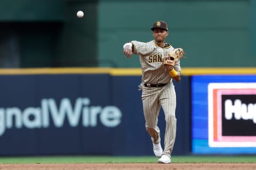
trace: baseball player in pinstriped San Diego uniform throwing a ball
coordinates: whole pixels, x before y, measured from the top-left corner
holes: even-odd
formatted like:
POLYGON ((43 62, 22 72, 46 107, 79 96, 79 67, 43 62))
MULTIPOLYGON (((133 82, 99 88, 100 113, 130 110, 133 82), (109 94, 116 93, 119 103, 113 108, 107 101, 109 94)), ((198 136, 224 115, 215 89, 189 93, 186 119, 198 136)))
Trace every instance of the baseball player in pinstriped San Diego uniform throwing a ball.
POLYGON ((169 34, 166 22, 155 22, 151 30, 154 40, 147 43, 130 41, 124 44, 123 53, 127 58, 132 54, 140 55, 142 82, 139 89, 142 90, 146 130, 151 136, 155 156, 161 157, 158 163, 169 164, 176 135, 176 94, 172 79, 180 81, 179 59, 183 56, 183 49, 174 49, 165 43, 165 38, 169 34), (170 59, 171 55, 175 55, 176 58, 170 59), (161 147, 160 130, 157 126, 161 107, 166 122, 164 150, 161 147))

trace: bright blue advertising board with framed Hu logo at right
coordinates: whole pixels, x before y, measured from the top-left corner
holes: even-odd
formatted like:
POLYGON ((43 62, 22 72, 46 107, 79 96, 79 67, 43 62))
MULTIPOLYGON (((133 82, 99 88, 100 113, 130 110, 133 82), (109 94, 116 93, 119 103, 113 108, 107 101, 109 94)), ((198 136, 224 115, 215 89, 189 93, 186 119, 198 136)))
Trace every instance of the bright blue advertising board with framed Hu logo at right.
POLYGON ((193 77, 193 152, 256 153, 255 80, 251 75, 193 77))

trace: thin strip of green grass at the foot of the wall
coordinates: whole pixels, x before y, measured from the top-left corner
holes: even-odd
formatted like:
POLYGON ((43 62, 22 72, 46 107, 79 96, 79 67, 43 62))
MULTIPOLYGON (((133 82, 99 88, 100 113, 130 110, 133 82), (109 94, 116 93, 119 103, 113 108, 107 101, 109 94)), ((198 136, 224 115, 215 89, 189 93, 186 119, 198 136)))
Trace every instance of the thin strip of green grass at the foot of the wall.
MULTIPOLYGON (((154 156, 0 157, 0 164, 157 163, 154 156)), ((172 156, 172 163, 256 163, 256 156, 172 156)))

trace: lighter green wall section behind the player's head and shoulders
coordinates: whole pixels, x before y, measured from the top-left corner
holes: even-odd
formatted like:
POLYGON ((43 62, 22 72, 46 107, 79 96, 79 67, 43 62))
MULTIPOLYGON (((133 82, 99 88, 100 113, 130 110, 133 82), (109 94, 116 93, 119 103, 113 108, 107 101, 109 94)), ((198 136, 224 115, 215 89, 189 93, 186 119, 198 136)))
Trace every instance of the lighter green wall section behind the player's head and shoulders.
POLYGON ((256 8, 245 0, 101 1, 99 65, 139 67, 138 56, 122 55, 123 44, 152 40, 151 26, 164 20, 170 30, 166 41, 187 53, 183 67, 253 67, 256 56, 250 51, 249 30, 254 22, 251 32, 256 31, 256 15, 250 15, 250 10, 256 8))

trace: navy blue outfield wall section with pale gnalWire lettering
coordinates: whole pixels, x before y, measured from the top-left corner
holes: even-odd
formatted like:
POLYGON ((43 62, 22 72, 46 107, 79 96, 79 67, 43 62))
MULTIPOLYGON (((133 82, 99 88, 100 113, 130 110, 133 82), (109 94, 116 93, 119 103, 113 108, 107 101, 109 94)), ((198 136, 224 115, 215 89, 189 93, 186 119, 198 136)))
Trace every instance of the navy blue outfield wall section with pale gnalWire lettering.
MULTIPOLYGON (((49 70, 3 70, 8 74, 0 75, 0 155, 154 154, 140 75, 49 70)), ((176 89, 179 128, 173 153, 184 155, 190 152, 189 77, 176 89)), ((162 112, 159 128, 164 130, 160 122, 162 112)))

